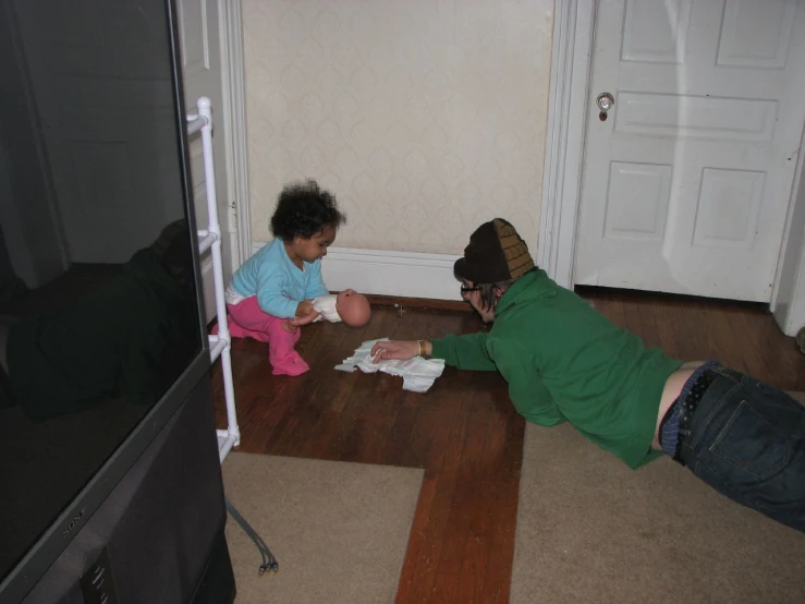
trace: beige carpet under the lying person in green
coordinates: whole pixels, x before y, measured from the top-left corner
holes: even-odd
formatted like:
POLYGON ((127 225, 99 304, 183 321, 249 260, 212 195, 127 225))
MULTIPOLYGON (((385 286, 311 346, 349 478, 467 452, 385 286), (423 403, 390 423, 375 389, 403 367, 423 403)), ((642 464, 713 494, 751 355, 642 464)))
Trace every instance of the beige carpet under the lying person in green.
POLYGON ((805 534, 668 458, 630 470, 528 424, 511 603, 805 602, 805 534))

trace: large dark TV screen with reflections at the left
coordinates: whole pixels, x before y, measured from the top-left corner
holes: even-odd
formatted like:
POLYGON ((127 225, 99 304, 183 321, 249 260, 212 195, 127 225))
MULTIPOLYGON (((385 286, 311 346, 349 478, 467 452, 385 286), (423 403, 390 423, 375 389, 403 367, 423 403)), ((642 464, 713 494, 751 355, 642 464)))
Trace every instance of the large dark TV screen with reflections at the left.
POLYGON ((0 0, 0 583, 205 354, 172 22, 0 0))

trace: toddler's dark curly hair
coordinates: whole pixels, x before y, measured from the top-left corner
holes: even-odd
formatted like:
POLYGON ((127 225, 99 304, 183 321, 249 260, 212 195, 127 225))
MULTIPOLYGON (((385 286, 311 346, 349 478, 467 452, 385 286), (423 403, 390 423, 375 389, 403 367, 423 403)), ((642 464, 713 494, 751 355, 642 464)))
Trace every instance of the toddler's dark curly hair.
POLYGON ((325 227, 340 227, 346 215, 339 210, 334 195, 319 189, 315 180, 286 184, 271 217, 271 233, 283 241, 310 239, 325 227))

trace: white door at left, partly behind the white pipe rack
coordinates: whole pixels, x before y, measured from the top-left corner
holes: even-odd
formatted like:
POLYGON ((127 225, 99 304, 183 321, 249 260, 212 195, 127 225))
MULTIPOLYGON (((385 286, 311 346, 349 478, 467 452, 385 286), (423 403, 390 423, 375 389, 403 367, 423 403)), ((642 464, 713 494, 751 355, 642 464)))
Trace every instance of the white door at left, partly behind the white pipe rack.
MULTIPOLYGON (((216 197, 221 224, 221 252, 224 283, 231 277, 232 251, 235 237, 231 203, 227 200, 227 162, 223 119, 223 78, 221 72, 221 37, 217 0, 176 0, 182 53, 184 101, 188 113, 196 112, 196 100, 206 96, 212 104, 212 153, 216 166, 216 197)), ((207 228, 207 192, 204 178, 204 156, 200 133, 190 137, 191 172, 199 229, 207 228)), ((207 321, 216 314, 212 256, 202 257, 204 300, 207 321)))

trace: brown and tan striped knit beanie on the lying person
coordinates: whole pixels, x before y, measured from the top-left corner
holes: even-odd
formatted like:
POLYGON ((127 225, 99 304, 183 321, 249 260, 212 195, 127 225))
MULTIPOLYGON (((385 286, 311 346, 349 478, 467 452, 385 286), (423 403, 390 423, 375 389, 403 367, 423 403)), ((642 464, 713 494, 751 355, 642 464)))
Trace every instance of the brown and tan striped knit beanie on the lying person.
POLYGON ((453 274, 474 283, 497 283, 522 277, 534 268, 528 246, 507 220, 484 222, 469 235, 464 257, 453 274))

